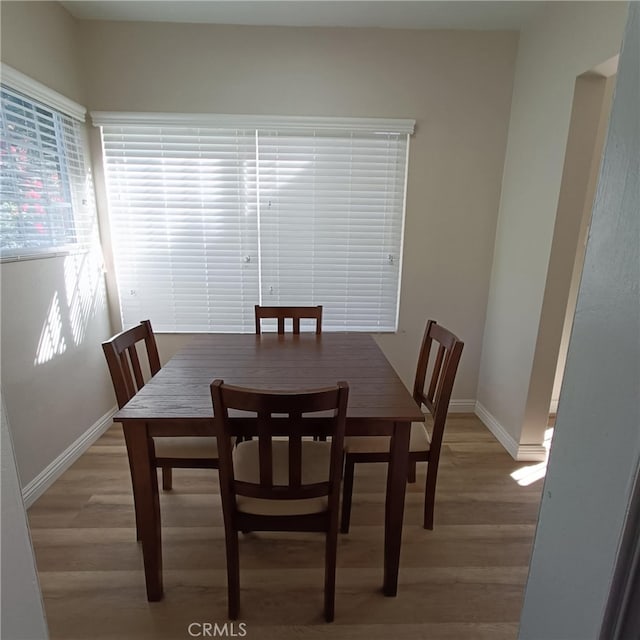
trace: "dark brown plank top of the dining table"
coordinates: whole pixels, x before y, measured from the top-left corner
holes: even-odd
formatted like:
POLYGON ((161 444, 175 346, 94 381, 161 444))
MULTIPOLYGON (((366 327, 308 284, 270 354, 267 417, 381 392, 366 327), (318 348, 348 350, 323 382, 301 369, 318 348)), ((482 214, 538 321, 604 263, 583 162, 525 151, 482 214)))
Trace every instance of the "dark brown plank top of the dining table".
POLYGON ((114 420, 212 422, 209 385, 217 378, 238 386, 282 390, 345 380, 347 423, 352 427, 360 422, 424 420, 373 337, 365 333, 198 335, 114 420))

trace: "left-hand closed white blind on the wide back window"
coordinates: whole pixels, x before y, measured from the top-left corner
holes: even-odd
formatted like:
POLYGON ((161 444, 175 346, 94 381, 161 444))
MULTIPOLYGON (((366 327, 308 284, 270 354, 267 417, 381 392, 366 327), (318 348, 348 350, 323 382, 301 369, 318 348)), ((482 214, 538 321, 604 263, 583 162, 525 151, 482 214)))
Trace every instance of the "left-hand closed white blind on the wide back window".
POLYGON ((104 127, 125 326, 250 331, 258 299, 254 131, 104 127))

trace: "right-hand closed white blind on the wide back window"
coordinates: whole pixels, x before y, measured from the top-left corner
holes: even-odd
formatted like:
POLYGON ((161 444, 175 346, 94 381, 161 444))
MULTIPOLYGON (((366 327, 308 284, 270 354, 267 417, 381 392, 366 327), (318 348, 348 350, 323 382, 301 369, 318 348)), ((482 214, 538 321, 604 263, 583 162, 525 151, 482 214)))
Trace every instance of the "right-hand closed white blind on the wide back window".
POLYGON ((406 155, 406 134, 259 132, 263 304, 395 330, 406 155))

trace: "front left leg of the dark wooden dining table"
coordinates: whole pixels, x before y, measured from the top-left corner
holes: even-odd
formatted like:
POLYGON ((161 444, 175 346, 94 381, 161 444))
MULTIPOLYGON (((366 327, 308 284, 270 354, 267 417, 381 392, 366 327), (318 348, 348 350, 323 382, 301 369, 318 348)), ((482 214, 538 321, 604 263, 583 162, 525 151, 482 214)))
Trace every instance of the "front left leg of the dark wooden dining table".
POLYGON ((158 476, 153 464, 153 443, 144 421, 123 425, 133 484, 136 522, 140 528, 147 600, 162 599, 162 540, 158 476))

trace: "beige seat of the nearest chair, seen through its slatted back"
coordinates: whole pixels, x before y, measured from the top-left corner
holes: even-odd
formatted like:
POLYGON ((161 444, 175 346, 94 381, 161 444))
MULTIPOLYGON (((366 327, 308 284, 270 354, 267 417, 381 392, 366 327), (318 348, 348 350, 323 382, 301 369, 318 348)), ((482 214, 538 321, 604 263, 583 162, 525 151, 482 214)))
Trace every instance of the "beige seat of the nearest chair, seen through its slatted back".
MULTIPOLYGON (((233 468, 236 480, 259 484, 260 467, 258 440, 241 442, 233 449, 233 468)), ((287 440, 272 440, 273 484, 287 485, 289 482, 289 443, 287 440)), ((327 482, 331 443, 302 441, 302 483, 327 482)), ((237 496, 238 511, 263 516, 289 516, 320 513, 328 508, 327 496, 304 500, 266 500, 237 496)))

